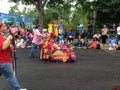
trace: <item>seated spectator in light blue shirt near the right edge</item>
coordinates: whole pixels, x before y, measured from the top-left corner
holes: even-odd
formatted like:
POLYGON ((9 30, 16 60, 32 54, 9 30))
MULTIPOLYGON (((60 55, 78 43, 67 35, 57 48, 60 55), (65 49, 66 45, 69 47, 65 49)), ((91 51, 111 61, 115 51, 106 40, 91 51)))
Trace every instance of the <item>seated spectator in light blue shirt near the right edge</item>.
POLYGON ((117 40, 114 36, 111 36, 111 38, 108 40, 108 44, 109 44, 109 50, 116 50, 116 46, 117 46, 117 40))

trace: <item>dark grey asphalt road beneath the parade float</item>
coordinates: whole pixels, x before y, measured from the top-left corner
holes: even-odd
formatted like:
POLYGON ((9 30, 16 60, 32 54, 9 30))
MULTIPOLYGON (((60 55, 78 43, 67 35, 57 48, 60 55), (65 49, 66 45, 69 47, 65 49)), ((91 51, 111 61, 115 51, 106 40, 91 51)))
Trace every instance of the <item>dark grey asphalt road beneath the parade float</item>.
MULTIPOLYGON (((17 49, 17 78, 28 90, 111 90, 120 85, 120 51, 75 49, 74 63, 43 62, 17 49)), ((12 90, 0 76, 0 90, 12 90)))

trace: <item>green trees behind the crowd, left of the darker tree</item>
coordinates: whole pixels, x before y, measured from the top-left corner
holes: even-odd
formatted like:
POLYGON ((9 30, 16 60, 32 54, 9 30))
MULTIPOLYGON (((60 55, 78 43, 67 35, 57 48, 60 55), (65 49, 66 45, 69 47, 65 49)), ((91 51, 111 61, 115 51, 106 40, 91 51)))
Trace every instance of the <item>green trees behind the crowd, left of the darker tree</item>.
MULTIPOLYGON (((77 23, 80 18, 83 19, 85 23, 85 30, 87 30, 88 20, 93 18, 93 3, 90 3, 88 0, 10 0, 13 2, 22 1, 26 4, 33 4, 36 6, 37 11, 31 11, 31 16, 37 17, 42 21, 44 20, 44 27, 47 27, 47 24, 50 21, 57 20, 57 17, 60 16, 63 19, 65 28, 71 27, 74 31, 77 32, 77 23), (42 3, 41 3, 42 2, 42 3), (44 4, 46 3, 46 4, 44 4), (44 9, 46 6, 47 9, 44 9), (74 11, 71 11, 71 7, 74 8, 74 11), (36 15, 36 16, 35 16, 36 15), (44 16, 44 17, 43 17, 44 16)), ((26 13, 27 9, 24 9, 22 15, 29 16, 29 10, 26 13)), ((37 19, 37 20, 38 20, 37 19)))

